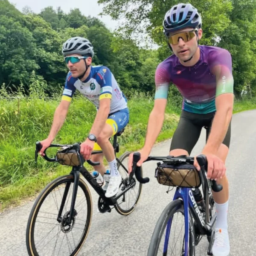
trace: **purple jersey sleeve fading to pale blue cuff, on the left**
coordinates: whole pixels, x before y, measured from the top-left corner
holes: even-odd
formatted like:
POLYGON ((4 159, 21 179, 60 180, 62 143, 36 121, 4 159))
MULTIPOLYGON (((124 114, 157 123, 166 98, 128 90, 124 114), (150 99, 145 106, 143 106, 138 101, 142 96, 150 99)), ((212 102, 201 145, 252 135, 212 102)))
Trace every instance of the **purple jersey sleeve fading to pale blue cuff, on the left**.
POLYGON ((154 99, 167 99, 170 84, 169 73, 163 63, 157 66, 155 73, 156 92, 154 99))

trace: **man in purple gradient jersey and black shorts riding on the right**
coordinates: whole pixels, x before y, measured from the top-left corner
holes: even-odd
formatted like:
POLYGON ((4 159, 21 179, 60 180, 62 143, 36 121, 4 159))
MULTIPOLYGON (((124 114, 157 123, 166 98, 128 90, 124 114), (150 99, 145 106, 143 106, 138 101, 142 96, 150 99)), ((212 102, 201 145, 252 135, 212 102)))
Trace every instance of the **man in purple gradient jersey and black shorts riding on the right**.
MULTIPOLYGON (((223 186, 213 192, 217 219, 214 256, 230 252, 227 231, 228 180, 224 165, 230 145, 230 122, 233 112, 232 58, 226 49, 199 46, 202 37, 201 16, 191 4, 173 6, 163 20, 163 28, 173 55, 160 63, 155 73, 155 101, 151 111, 145 145, 140 150, 141 166, 150 154, 164 121, 169 84, 173 83, 183 96, 182 113, 173 135, 170 155, 191 153, 206 128, 206 145, 202 154, 208 160, 208 178, 223 186)), ((195 161, 195 166, 200 166, 195 161)), ((129 157, 129 172, 132 154, 129 157)))

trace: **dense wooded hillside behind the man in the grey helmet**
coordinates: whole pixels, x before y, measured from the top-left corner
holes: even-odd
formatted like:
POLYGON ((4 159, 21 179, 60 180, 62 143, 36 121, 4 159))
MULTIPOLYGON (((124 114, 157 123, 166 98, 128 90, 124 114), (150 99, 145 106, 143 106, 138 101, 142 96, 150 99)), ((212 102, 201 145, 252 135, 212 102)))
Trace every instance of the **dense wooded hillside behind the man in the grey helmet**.
POLYGON ((47 7, 35 14, 25 8, 21 13, 8 0, 0 1, 0 85, 14 91, 23 84, 28 93, 34 70, 38 79, 46 81, 45 91, 51 96, 64 84, 67 67, 61 47, 72 36, 92 42, 93 65, 108 66, 127 93, 154 90, 154 71, 160 61, 156 50, 140 49, 79 9, 65 14, 61 8, 47 7))

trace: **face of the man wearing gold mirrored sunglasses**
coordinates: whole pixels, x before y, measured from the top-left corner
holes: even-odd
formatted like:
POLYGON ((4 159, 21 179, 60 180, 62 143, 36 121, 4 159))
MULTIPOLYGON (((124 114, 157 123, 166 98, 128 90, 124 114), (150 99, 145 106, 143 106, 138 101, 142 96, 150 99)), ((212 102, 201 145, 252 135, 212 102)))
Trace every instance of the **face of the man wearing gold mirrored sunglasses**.
POLYGON ((202 37, 202 29, 198 29, 198 38, 192 28, 180 29, 169 35, 169 44, 173 53, 181 60, 187 61, 198 48, 198 39, 202 37))

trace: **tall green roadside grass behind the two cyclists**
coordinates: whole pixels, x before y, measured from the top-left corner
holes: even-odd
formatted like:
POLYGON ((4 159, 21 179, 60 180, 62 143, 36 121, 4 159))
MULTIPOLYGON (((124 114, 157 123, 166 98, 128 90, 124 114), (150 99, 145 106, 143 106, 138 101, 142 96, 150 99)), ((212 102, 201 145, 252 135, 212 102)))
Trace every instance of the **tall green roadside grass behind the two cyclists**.
MULTIPOLYGON (((35 164, 35 142, 48 136, 61 96, 55 95, 55 98, 49 99, 38 81, 32 81, 31 84, 29 97, 23 96, 22 87, 15 95, 10 95, 3 88, 0 90, 0 210, 34 196, 55 177, 70 172, 69 167, 49 163, 41 157, 35 164)), ((173 101, 169 97, 166 118, 157 141, 172 137, 179 119, 179 103, 180 99, 173 101)), ((130 122, 122 136, 118 137, 118 155, 143 146, 153 105, 153 97, 145 93, 134 93, 128 99, 130 122)), ((237 102, 234 112, 250 108, 256 108, 255 101, 237 102)), ((95 116, 94 105, 77 95, 72 100, 67 119, 54 143, 84 141, 95 116)), ((55 151, 49 149, 49 153, 54 154, 55 151)))

